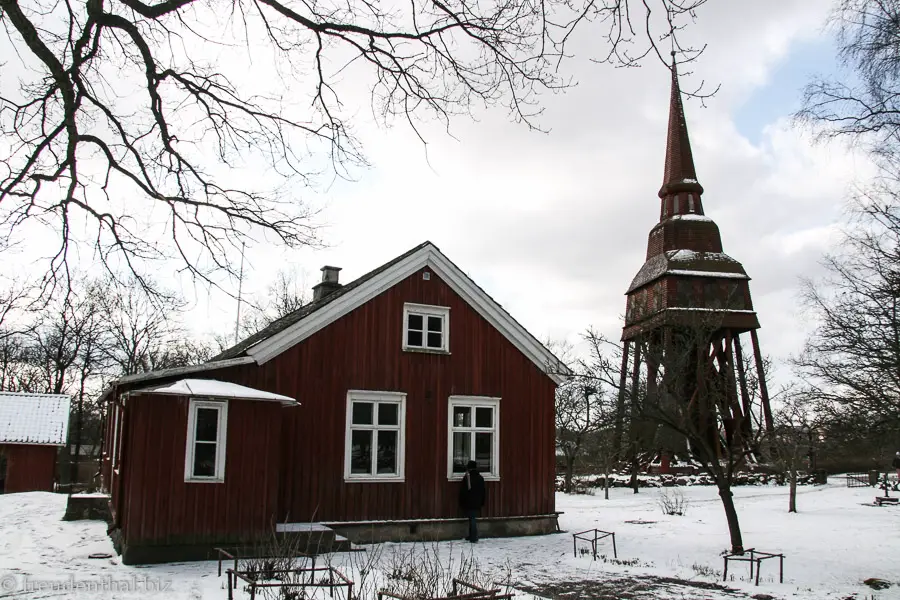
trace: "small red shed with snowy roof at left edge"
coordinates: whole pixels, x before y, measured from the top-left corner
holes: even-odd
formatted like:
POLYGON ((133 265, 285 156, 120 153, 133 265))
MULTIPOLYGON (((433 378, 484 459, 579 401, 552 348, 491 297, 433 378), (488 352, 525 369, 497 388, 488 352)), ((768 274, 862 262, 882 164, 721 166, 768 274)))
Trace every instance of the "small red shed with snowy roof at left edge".
POLYGON ((0 392, 0 494, 52 492, 69 397, 0 392))

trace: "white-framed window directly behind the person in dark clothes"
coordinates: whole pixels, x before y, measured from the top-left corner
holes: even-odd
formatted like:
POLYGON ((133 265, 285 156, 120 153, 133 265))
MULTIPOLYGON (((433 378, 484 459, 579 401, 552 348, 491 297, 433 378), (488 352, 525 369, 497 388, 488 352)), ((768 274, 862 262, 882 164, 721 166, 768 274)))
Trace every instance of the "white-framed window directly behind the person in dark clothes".
POLYGON ((500 398, 450 396, 448 477, 460 478, 474 460, 486 479, 500 477, 500 398))

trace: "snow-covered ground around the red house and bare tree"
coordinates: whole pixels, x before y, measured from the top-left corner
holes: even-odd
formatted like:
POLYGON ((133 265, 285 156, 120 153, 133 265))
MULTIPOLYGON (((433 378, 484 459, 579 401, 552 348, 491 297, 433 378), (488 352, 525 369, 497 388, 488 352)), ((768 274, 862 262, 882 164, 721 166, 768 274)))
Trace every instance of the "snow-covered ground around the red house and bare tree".
MULTIPOLYGON (((746 564, 730 569, 723 590, 721 553, 728 546, 725 518, 715 489, 681 488, 689 505, 684 516, 664 515, 657 500, 662 490, 614 488, 606 501, 596 496, 557 496, 566 533, 438 544, 382 544, 365 554, 333 557, 333 564, 358 577, 360 557, 378 556, 382 568, 416 547, 451 557, 471 558, 496 579, 511 577, 519 589, 543 596, 580 593, 594 598, 749 598, 768 594, 798 600, 900 598, 900 507, 875 507, 870 488, 844 487, 832 478, 825 486, 802 487, 797 514, 787 512, 786 488, 740 487, 735 490, 746 547, 783 552, 785 583, 779 584, 775 560, 763 564, 761 584, 747 581, 746 564), (601 542, 608 558, 575 556, 571 533, 591 528, 616 532, 619 561, 601 542), (354 561, 356 561, 354 564, 354 561), (355 566, 354 566, 355 565, 355 566), (893 586, 873 591, 869 578, 893 586), (619 595, 601 595, 613 591, 619 595)), ((671 488, 667 488, 671 491, 671 488)), ((224 599, 216 563, 198 562, 129 567, 112 553, 106 525, 63 522, 65 496, 30 493, 0 496, 0 597, 224 599)), ((521 594, 527 598, 528 594, 521 594)), ((244 597, 240 593, 237 597, 244 597)))

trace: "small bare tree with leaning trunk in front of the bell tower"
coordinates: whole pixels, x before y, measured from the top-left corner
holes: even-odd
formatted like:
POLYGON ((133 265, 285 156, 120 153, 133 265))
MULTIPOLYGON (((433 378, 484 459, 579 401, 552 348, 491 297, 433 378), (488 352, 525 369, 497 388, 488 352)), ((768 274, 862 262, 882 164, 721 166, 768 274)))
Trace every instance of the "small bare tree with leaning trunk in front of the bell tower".
POLYGON ((747 376, 746 407, 729 391, 730 368, 715 376, 701 376, 710 364, 710 340, 716 339, 720 324, 714 314, 697 317, 692 326, 671 331, 667 339, 652 335, 641 338, 640 355, 657 365, 653 385, 636 395, 635 416, 642 446, 683 448, 712 478, 725 510, 731 551, 743 553, 744 543, 731 488, 735 476, 756 460, 760 448, 760 398, 750 390, 757 376, 745 357, 747 376), (686 395, 685 390, 693 390, 686 395), (751 423, 744 422, 749 419, 751 423), (750 427, 748 427, 750 425, 750 427), (748 434, 748 432, 750 432, 748 434))

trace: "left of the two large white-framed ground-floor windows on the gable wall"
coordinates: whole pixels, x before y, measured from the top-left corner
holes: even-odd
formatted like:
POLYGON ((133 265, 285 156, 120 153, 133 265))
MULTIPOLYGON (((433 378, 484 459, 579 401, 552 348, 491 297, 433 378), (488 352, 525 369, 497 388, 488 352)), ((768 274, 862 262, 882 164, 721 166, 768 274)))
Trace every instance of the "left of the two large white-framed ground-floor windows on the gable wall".
POLYGON ((406 394, 347 392, 347 481, 403 481, 406 394))

